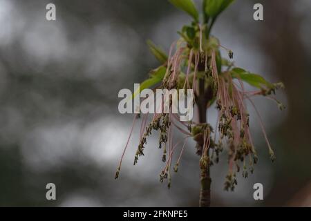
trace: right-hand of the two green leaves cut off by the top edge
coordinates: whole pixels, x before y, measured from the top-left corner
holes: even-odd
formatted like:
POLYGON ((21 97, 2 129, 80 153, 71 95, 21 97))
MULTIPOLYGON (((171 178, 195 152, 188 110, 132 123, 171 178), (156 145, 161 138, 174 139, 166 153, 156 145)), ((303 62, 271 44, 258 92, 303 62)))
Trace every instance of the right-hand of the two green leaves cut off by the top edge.
POLYGON ((234 0, 204 0, 205 16, 211 19, 216 19, 234 0))

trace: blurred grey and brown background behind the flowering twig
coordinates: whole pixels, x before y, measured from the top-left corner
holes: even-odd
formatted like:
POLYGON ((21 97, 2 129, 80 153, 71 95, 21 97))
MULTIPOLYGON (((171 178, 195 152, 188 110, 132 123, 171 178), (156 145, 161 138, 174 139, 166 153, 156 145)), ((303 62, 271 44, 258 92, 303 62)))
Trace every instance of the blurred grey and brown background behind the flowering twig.
MULTIPOLYGON (((309 0, 237 0, 216 22, 212 34, 234 51, 237 66, 284 82, 277 97, 287 108, 255 99, 277 160, 270 162, 252 117, 254 174, 238 175, 236 191, 223 191, 221 157, 211 168, 212 206, 311 206, 310 11, 309 0), (263 4, 264 21, 254 21, 254 3, 263 4), (264 200, 253 199, 256 182, 264 200)), ((197 206, 191 140, 167 189, 157 137, 133 166, 135 127, 114 180, 133 118, 117 111, 117 93, 158 65, 147 39, 168 51, 190 22, 166 0, 0 0, 0 206, 197 206), (47 3, 55 3, 56 21, 46 21, 47 3), (46 200, 49 182, 57 200, 46 200)))

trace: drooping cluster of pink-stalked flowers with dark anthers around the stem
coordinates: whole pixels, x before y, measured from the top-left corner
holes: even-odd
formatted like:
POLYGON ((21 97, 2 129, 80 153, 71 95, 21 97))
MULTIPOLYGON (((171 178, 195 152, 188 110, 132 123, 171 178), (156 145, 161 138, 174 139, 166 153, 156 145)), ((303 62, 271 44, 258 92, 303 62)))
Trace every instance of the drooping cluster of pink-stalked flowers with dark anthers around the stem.
MULTIPOLYGON (((158 131, 158 148, 163 150, 162 161, 164 162, 164 167, 160 172, 160 182, 167 179, 170 187, 173 155, 180 146, 178 157, 176 157, 177 161, 173 166, 173 171, 177 172, 187 140, 192 137, 197 143, 196 152, 201 157, 201 170, 207 170, 209 166, 217 163, 223 147, 227 147, 229 171, 226 177, 225 190, 233 191, 237 184, 236 173, 241 171, 241 166, 243 166, 243 177, 247 177, 248 172, 253 173, 254 164, 258 160, 252 135, 249 131, 249 113, 245 101, 254 106, 252 97, 263 95, 263 97, 276 101, 279 107, 283 108, 283 105, 272 97, 275 90, 282 88, 283 84, 271 84, 260 75, 254 75, 241 68, 236 68, 232 61, 221 58, 220 48, 227 51, 230 59, 233 57, 232 50, 220 46, 215 37, 204 37, 202 35, 202 32, 205 31, 204 28, 204 26, 193 24, 190 28, 186 26, 182 29, 181 38, 172 44, 169 56, 162 64, 162 67, 166 68, 166 73, 157 88, 168 90, 172 88, 193 89, 194 105, 198 104, 202 97, 208 97, 207 100, 205 99, 206 109, 216 102, 218 109, 216 127, 213 129, 207 122, 182 122, 178 114, 171 113, 171 111, 169 113, 163 113, 163 111, 162 113, 159 113, 161 111, 154 113, 150 117, 151 122, 149 124, 148 114, 142 115, 140 140, 134 164, 137 164, 139 157, 144 155, 147 137, 153 131, 158 131), (202 82, 204 83, 202 84, 202 82), (258 89, 254 91, 245 90, 245 82, 258 89), (176 144, 173 143, 173 131, 175 131, 173 128, 185 136, 176 144)), ((152 49, 157 50, 155 47, 152 49)), ((161 51, 157 50, 156 52, 159 55, 161 51)), ((255 106, 254 110, 258 115, 258 122, 267 142, 270 158, 274 161, 274 151, 272 151, 263 122, 255 106)), ((140 114, 136 114, 133 119, 131 133, 126 142, 120 164, 117 166, 115 178, 119 175, 124 153, 129 144, 135 121, 139 116, 140 114)))

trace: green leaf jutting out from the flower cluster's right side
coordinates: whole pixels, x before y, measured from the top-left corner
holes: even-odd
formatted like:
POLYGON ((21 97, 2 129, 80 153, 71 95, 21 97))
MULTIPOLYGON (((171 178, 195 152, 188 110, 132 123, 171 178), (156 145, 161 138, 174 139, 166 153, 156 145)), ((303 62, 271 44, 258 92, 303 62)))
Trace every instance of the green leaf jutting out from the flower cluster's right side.
POLYGON ((232 77, 241 79, 245 81, 247 84, 254 86, 256 88, 274 88, 274 84, 271 84, 269 81, 266 81, 261 75, 256 75, 253 73, 249 73, 243 68, 233 68, 231 70, 232 77))

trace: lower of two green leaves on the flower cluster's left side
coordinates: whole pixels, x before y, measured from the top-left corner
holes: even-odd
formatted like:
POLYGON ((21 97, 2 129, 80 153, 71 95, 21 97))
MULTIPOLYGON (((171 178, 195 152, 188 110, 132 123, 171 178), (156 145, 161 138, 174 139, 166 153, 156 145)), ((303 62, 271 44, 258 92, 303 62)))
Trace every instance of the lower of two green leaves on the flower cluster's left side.
POLYGON ((142 83, 140 83, 140 90, 134 91, 132 99, 137 95, 139 95, 142 90, 146 88, 151 88, 152 86, 155 86, 156 84, 160 83, 163 80, 166 72, 167 68, 165 68, 164 66, 160 66, 159 68, 152 70, 149 79, 142 81, 142 83))

